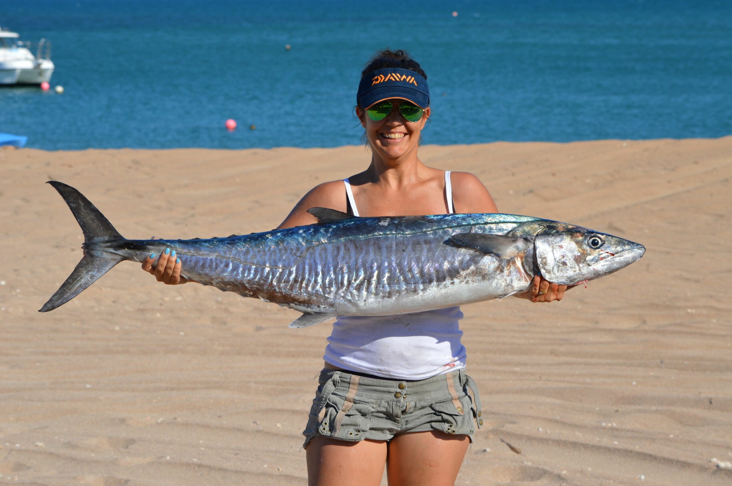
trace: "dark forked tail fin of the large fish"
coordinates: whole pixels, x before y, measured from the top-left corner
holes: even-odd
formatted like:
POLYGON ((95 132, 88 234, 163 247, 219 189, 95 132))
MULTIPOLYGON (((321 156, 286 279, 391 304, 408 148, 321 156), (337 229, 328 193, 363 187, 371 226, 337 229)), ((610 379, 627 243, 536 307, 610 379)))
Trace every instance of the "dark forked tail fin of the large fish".
POLYGON ((89 243, 102 243, 114 240, 124 240, 124 237, 114 229, 104 215, 83 197, 81 192, 58 181, 48 181, 69 206, 81 231, 84 234, 84 256, 78 262, 69 278, 56 290, 56 293, 43 304, 39 312, 53 311, 64 305, 81 293, 83 289, 94 284, 97 278, 107 273, 114 265, 124 260, 124 257, 104 251, 93 251, 87 248, 89 243))

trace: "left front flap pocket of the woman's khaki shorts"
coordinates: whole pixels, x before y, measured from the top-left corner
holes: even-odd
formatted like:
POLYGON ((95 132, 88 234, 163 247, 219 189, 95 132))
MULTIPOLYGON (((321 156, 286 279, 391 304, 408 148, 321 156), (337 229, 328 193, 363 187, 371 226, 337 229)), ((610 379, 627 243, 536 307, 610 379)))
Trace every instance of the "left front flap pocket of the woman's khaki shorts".
POLYGON ((323 419, 318 424, 320 436, 338 438, 344 441, 360 441, 371 428, 371 412, 376 406, 354 400, 347 411, 343 411, 346 398, 331 393, 324 403, 323 419))

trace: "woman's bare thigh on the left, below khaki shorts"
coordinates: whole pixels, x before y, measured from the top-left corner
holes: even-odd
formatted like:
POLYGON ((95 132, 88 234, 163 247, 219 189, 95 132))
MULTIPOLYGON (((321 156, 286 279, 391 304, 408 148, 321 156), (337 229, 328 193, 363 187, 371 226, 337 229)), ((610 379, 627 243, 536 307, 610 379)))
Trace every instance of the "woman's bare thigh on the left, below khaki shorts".
POLYGON ((309 486, 378 486, 384 474, 386 441, 318 437, 307 444, 305 453, 309 486))

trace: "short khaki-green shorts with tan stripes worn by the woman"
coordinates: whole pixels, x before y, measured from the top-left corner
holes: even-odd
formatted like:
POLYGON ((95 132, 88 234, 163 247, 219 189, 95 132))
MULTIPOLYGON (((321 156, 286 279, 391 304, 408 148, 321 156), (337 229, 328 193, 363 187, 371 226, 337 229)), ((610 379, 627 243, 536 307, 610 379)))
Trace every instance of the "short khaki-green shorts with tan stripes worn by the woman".
POLYGON ((463 370, 392 381, 324 368, 318 383, 302 447, 319 436, 388 441, 397 433, 427 430, 466 435, 472 442, 474 419, 478 428, 483 425, 478 388, 463 370))

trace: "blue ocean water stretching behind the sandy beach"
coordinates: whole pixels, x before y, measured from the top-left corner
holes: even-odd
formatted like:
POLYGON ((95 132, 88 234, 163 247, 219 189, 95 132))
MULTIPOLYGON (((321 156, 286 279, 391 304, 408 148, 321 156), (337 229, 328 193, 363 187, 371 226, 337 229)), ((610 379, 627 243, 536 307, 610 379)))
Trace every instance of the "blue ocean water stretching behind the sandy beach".
POLYGON ((35 148, 358 144, 360 71, 386 46, 427 72, 425 143, 732 134, 729 0, 3 0, 0 14, 51 40, 65 88, 0 89, 0 132, 35 148))

